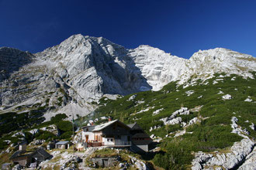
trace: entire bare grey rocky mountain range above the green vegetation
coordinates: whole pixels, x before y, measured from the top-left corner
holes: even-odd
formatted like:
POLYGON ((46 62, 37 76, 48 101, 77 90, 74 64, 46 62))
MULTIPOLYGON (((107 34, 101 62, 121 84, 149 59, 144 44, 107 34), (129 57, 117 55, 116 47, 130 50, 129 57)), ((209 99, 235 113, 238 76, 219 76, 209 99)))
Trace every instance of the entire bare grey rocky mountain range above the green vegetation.
POLYGON ((1 112, 38 110, 50 120, 58 113, 71 119, 95 110, 103 95, 118 97, 189 79, 206 80, 214 73, 253 77, 253 56, 230 49, 209 49, 190 59, 161 49, 126 49, 102 37, 74 35, 40 53, 0 49, 1 112))

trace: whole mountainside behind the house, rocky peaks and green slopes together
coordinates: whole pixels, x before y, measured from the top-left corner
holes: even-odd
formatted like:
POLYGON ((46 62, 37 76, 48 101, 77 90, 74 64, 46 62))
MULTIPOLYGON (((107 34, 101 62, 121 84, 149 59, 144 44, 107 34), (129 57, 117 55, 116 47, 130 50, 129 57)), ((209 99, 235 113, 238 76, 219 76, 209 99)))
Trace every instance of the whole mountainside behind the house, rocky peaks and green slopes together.
POLYGON ((150 134, 158 167, 255 169, 255 81, 256 59, 223 48, 183 59, 81 35, 35 54, 1 47, 0 165, 18 142, 71 140, 73 118, 111 116, 150 134))

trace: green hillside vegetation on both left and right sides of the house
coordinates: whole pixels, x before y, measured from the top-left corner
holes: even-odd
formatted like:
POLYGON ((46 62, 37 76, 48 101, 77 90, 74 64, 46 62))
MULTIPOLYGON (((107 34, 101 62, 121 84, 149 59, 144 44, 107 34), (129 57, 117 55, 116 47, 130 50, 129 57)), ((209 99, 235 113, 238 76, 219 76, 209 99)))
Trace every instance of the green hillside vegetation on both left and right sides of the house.
MULTIPOLYGON (((95 124, 100 124, 106 121, 100 117, 107 116, 126 124, 137 122, 154 141, 160 141, 157 143, 160 151, 148 155, 147 160, 164 169, 191 168, 196 152, 223 153, 235 141, 241 141, 242 137, 231 133, 232 117, 237 117, 245 135, 256 138, 251 128, 256 124, 256 73, 253 75, 254 79, 245 79, 221 73, 203 82, 189 80, 183 85, 172 82, 159 91, 133 93, 117 100, 103 97, 98 109, 75 122, 79 127, 98 118, 95 124), (177 114, 175 117, 181 120, 174 124, 164 122, 181 108, 187 108, 189 114, 177 114)), ((24 139, 28 142, 71 139, 72 124, 64 121, 65 114, 57 114, 42 123, 40 109, 34 110, 35 113, 1 114, 0 149, 8 148, 9 141, 16 145, 24 139), (33 130, 38 131, 32 134, 33 130)))

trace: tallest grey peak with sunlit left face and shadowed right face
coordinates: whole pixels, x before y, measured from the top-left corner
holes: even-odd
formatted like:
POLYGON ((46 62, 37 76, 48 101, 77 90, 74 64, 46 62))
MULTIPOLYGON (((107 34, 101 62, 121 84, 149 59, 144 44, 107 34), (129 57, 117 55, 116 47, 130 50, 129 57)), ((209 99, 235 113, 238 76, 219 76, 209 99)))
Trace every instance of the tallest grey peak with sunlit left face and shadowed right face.
POLYGON ((150 90, 127 52, 102 37, 75 35, 36 56, 52 63, 52 68, 81 97, 97 100, 104 93, 125 95, 141 88, 150 90))

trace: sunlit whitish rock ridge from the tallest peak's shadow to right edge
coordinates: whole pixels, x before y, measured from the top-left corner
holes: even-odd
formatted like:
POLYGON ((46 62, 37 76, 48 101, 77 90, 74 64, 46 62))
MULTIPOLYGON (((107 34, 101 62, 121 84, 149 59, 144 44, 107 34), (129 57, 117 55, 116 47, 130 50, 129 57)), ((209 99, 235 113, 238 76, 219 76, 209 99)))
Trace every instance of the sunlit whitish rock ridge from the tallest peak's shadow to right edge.
POLYGON ((214 73, 253 77, 250 71, 256 70, 253 56, 223 48, 199 50, 190 59, 172 56, 151 46, 130 49, 129 55, 153 90, 160 90, 171 81, 185 83, 190 78, 206 80, 214 73))

